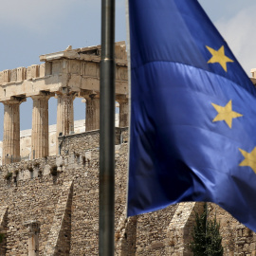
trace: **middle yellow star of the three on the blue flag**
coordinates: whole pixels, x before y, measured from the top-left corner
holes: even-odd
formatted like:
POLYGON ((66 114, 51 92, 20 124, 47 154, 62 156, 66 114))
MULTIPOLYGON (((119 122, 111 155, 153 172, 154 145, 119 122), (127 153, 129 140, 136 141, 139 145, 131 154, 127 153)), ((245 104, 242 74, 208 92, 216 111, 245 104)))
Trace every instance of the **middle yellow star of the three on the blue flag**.
POLYGON ((225 120, 226 123, 229 125, 229 128, 232 128, 232 119, 243 117, 243 115, 232 111, 232 101, 231 100, 224 107, 214 104, 214 103, 211 103, 211 105, 218 112, 218 115, 212 121, 225 120))

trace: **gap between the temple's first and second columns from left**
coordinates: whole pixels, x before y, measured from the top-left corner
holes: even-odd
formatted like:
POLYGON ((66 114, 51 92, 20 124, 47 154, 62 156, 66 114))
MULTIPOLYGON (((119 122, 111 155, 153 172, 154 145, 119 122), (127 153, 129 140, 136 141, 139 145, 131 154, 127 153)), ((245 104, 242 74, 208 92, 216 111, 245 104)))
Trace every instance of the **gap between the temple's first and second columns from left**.
POLYGON ((31 128, 32 128, 33 100, 20 104, 20 155, 22 159, 29 159, 31 152, 31 128))

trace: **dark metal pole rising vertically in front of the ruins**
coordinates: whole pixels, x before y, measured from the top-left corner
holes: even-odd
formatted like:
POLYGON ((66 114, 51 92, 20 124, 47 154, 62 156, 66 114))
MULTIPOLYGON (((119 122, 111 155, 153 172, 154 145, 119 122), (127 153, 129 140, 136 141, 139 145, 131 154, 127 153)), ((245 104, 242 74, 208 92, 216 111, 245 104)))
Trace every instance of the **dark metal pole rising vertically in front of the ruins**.
POLYGON ((115 0, 101 0, 99 255, 115 250, 115 0))

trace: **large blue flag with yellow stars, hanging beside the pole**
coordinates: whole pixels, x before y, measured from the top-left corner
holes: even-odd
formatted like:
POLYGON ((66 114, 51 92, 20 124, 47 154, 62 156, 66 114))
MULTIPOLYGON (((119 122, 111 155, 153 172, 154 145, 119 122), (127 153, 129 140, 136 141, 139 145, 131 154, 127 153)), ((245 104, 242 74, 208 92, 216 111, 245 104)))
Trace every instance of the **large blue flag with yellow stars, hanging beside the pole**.
POLYGON ((256 231, 256 90, 196 0, 129 0, 128 215, 209 201, 256 231))

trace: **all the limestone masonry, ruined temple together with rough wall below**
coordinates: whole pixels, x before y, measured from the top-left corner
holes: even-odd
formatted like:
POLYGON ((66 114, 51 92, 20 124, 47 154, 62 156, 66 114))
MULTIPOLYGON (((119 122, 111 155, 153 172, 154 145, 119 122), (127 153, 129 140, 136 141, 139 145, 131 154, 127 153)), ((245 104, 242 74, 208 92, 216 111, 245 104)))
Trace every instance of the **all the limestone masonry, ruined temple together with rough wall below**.
MULTIPOLYGON (((101 46, 69 47, 40 56, 44 64, 0 72, 0 101, 5 106, 0 166, 0 234, 4 234, 4 240, 0 255, 98 255, 100 55, 101 46), (30 146, 21 142, 19 125, 19 106, 27 97, 33 100, 30 146), (58 99, 54 145, 49 142, 50 97, 58 99), (75 97, 85 99, 85 131, 76 128, 84 127, 84 120, 82 124, 74 123, 75 97), (26 145, 32 152, 30 160, 21 158, 26 145), (54 149, 52 154, 49 148, 54 149)), ((126 59, 124 43, 117 43, 116 255, 192 255, 188 244, 194 212, 203 210, 202 203, 180 203, 125 217, 129 98, 126 59)), ((254 232, 216 205, 209 203, 208 209, 210 218, 216 214, 221 224, 225 255, 256 255, 254 232)))

